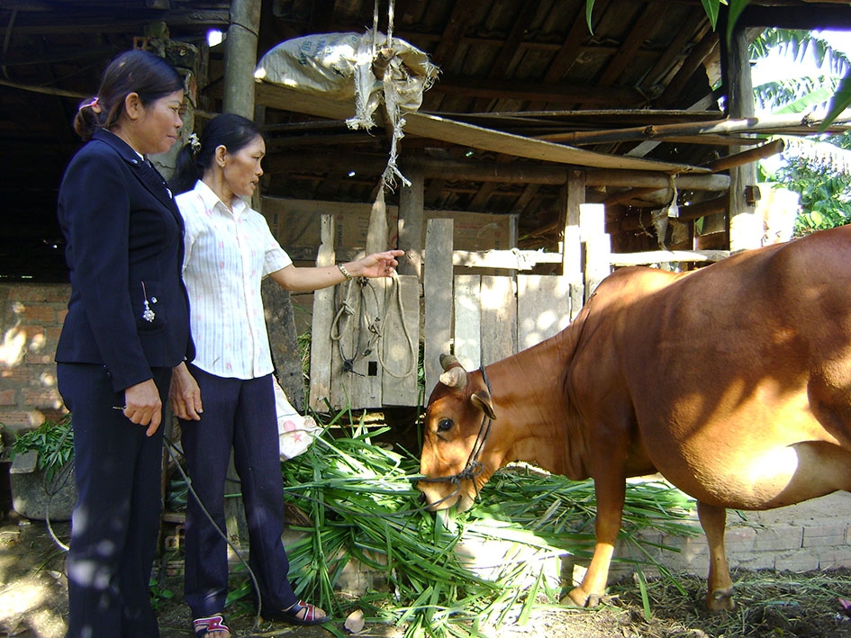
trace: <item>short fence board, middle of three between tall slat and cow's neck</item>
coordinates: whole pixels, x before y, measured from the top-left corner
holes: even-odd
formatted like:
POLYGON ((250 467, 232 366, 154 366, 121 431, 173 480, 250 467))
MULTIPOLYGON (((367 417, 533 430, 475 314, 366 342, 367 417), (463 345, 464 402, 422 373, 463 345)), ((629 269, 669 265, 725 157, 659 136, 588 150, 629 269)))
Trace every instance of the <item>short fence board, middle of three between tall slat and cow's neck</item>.
POLYGON ((517 352, 517 301, 512 277, 482 277, 481 364, 517 352))

